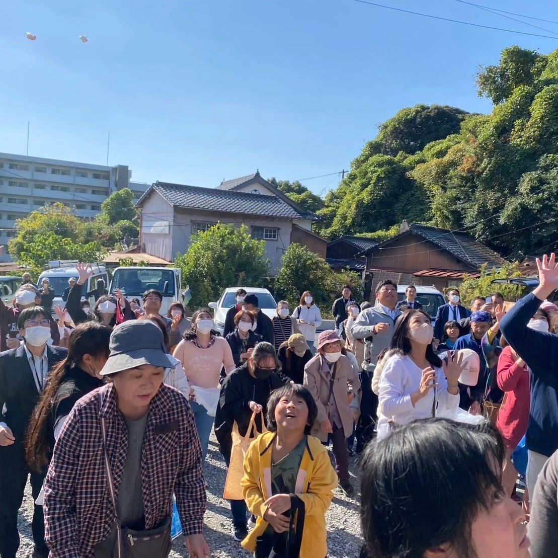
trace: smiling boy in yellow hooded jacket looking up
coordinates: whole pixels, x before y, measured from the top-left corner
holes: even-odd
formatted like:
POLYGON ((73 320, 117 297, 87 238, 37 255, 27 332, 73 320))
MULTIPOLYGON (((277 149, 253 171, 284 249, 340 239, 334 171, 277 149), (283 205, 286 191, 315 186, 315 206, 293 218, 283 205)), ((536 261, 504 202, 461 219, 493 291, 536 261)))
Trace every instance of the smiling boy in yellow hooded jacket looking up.
POLYGON ((267 403, 269 432, 244 457, 243 495, 257 522, 242 546, 256 558, 328 554, 325 512, 338 478, 326 448, 309 435, 317 414, 304 386, 277 389, 267 403))

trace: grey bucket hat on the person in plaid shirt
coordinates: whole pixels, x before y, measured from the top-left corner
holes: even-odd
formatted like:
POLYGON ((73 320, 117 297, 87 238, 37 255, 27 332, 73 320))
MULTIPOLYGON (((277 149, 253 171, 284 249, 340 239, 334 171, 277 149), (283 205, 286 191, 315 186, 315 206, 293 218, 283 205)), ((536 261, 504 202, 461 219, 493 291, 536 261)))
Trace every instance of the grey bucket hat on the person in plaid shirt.
POLYGON ((172 368, 166 355, 163 334, 149 320, 129 320, 117 326, 110 334, 110 354, 101 376, 116 374, 142 364, 172 368))

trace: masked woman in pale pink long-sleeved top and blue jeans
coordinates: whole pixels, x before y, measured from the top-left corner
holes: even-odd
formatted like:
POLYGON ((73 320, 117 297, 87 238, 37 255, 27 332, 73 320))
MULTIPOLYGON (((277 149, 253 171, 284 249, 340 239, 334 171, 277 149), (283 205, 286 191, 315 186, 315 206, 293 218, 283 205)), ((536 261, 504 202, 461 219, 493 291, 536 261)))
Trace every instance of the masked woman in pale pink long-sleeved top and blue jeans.
POLYGON ((229 374, 235 368, 229 344, 215 331, 211 311, 202 308, 194 312, 192 326, 174 350, 190 384, 190 405, 194 411, 196 429, 203 457, 208 452, 209 435, 219 401, 221 369, 229 374))

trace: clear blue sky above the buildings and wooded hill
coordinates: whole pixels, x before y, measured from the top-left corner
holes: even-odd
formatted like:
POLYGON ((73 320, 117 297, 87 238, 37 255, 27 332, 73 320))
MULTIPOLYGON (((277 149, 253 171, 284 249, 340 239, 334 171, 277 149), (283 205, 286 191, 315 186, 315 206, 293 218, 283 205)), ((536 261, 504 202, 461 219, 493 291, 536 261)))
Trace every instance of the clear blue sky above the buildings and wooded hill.
MULTIPOLYGON (((478 1, 558 21, 550 0, 478 1)), ((383 3, 550 34, 455 0, 383 3)), ((109 163, 137 181, 217 186, 257 167, 278 179, 325 175, 348 169, 403 107, 489 112, 475 71, 514 44, 546 53, 558 36, 353 0, 2 0, 0 151, 25 154, 31 121, 30 155, 82 162, 105 162, 110 130, 109 163)), ((304 184, 323 192, 338 177, 304 184)))

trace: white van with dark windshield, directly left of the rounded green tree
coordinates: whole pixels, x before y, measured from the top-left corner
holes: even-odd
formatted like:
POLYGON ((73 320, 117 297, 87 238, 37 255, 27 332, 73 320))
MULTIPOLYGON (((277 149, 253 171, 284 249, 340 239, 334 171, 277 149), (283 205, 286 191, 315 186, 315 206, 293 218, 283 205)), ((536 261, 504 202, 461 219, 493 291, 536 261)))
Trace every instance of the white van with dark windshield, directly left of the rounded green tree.
POLYGON ((110 294, 119 288, 128 300, 140 299, 143 309, 142 295, 152 288, 163 295, 160 314, 166 316, 173 302, 182 302, 180 292, 181 270, 176 267, 117 267, 110 282, 110 294))

